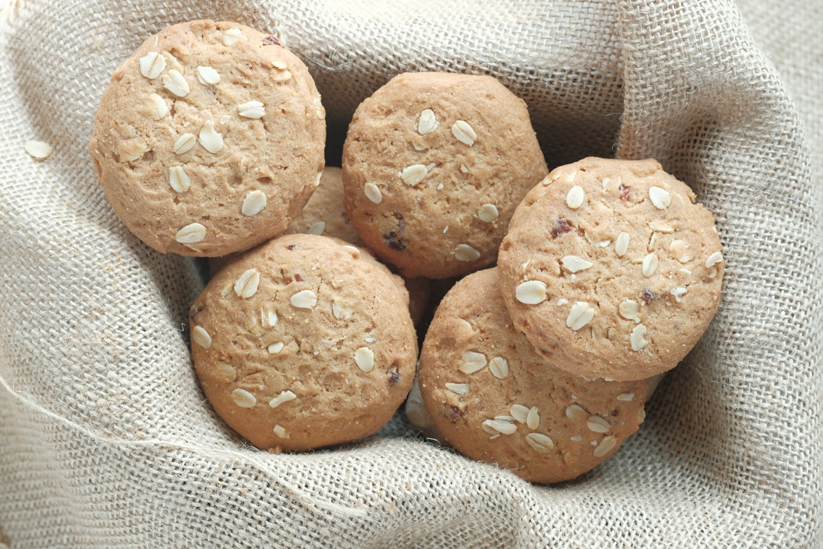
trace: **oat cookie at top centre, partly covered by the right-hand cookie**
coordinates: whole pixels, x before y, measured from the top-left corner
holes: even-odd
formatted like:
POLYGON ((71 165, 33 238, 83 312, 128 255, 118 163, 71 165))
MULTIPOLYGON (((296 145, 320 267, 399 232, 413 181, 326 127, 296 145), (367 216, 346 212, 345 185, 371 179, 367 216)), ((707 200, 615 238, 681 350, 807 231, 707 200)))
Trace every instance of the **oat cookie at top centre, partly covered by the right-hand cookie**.
POLYGON ((509 218, 547 173, 528 109, 492 77, 412 72, 356 109, 342 156, 346 214, 406 277, 495 262, 509 218))

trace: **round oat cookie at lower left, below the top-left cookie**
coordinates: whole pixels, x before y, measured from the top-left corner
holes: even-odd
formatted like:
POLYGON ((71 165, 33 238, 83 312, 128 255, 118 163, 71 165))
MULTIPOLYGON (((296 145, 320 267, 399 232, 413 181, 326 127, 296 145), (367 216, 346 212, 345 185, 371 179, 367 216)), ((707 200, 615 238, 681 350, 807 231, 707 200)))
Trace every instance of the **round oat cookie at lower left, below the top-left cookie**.
POLYGON ((408 295, 368 251, 285 235, 222 268, 189 311, 203 393, 260 449, 357 440, 406 398, 417 342, 408 295))

